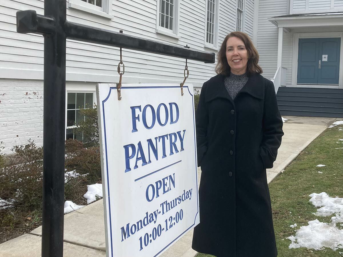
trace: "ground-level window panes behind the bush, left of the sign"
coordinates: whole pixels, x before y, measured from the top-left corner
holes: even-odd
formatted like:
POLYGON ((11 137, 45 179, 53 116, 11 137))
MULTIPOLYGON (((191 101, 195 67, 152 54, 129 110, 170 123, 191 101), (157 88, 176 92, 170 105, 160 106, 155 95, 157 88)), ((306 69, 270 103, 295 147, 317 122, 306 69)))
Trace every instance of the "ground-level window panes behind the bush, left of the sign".
POLYGON ((80 114, 80 109, 93 108, 94 93, 69 93, 67 94, 67 129, 66 139, 78 139, 82 141, 82 135, 73 133, 73 128, 84 120, 84 115, 80 114))

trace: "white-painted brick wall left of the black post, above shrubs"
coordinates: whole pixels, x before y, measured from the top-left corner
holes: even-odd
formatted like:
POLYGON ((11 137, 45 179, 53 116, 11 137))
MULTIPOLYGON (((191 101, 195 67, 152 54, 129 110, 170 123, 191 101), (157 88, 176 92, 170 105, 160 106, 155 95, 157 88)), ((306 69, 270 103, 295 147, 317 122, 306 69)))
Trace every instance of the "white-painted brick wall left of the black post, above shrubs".
POLYGON ((43 145, 43 81, 0 79, 0 142, 4 153, 33 139, 43 145))

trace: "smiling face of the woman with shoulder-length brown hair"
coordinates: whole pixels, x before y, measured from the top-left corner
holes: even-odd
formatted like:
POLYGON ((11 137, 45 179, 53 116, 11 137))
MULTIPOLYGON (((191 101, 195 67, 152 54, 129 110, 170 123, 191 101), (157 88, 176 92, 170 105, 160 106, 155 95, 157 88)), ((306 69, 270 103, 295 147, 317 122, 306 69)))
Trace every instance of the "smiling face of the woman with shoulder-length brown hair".
POLYGON ((230 37, 226 41, 226 59, 233 74, 244 74, 247 71, 248 51, 242 40, 230 37))

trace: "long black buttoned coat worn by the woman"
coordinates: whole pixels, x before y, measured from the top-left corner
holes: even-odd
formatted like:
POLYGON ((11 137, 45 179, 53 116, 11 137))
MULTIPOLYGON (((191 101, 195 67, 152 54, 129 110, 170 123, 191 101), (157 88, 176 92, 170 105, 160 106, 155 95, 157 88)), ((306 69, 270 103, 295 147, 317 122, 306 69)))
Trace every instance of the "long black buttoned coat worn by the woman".
POLYGON ((196 112, 200 224, 192 248, 217 257, 275 257, 266 168, 281 145, 274 85, 249 76, 235 100, 224 76, 203 84, 196 112))

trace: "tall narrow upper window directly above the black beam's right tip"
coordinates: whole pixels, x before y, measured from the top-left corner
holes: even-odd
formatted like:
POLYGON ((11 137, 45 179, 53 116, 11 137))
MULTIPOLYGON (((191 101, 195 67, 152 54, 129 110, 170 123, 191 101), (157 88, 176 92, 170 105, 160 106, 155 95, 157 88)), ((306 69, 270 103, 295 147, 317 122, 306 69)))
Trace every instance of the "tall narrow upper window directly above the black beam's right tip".
MULTIPOLYGON (((218 16, 218 1, 207 0, 206 1, 206 43, 216 47, 217 39, 217 16, 218 16)), ((205 45, 206 45, 205 43, 205 45)))

